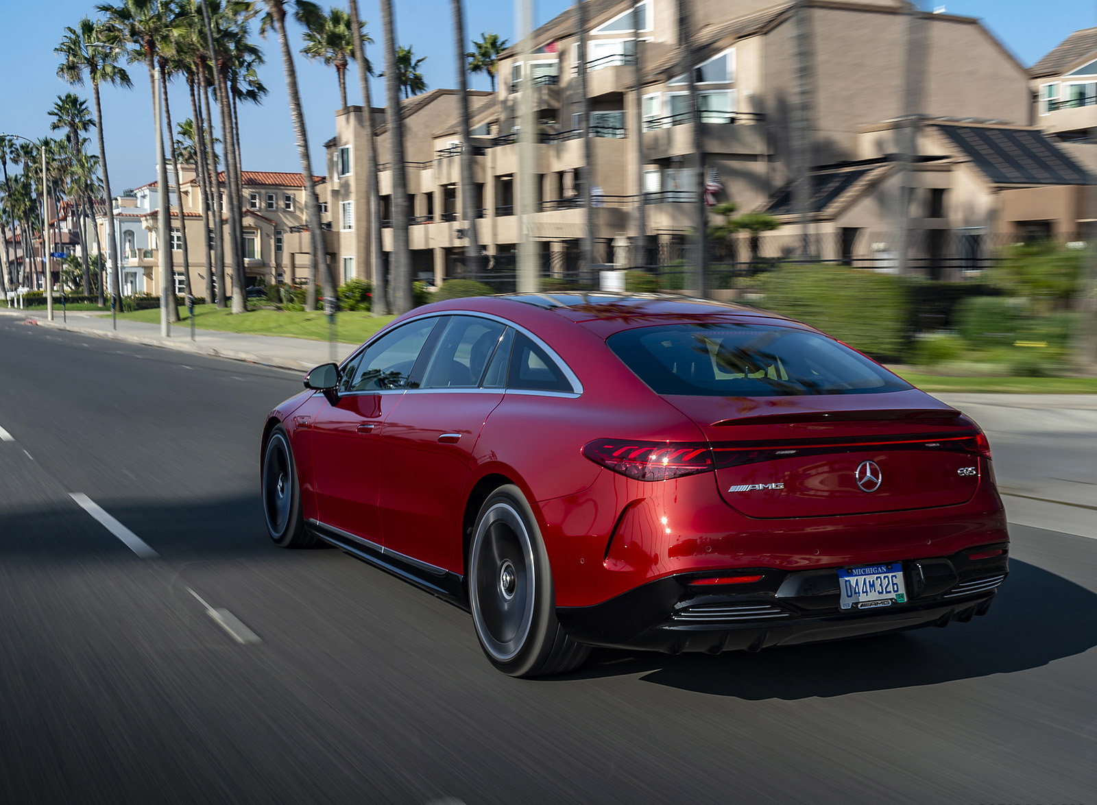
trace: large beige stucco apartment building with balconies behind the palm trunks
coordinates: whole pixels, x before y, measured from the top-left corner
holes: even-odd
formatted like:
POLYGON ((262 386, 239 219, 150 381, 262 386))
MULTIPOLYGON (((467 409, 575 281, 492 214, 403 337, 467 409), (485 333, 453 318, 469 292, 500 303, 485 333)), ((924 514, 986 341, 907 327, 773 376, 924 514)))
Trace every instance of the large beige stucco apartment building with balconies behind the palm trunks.
MULTIPOLYGON (((904 182, 914 188, 909 253, 935 276, 977 269, 1000 239, 1034 229, 1066 235, 1088 216, 1081 191, 1087 174, 1032 125, 1029 73, 977 20, 945 13, 912 19, 903 0, 807 0, 805 7, 807 160, 814 166, 808 234, 819 258, 893 264, 904 182), (904 172, 896 121, 908 117, 912 25, 919 26, 923 46, 916 158, 904 172), (986 148, 996 149, 988 159, 981 154, 986 148), (1039 165, 1019 169, 1032 161, 1026 150, 1032 148, 1042 155, 1039 165), (1051 163, 1054 169, 1045 170, 1051 163), (1052 223, 1034 224, 1045 219, 1052 223)), ((641 204, 647 234, 663 247, 660 260, 672 259, 691 229, 687 202, 694 197, 695 155, 676 2, 643 0, 636 8, 634 25, 632 2, 587 2, 596 261, 612 259, 618 236, 637 234, 641 204)), ((714 201, 778 215, 783 226, 764 236, 761 253, 791 254, 801 241, 788 188, 799 86, 792 3, 692 0, 689 13, 705 175, 719 185, 714 201)), ((533 93, 539 140, 530 166, 536 212, 528 231, 540 245, 543 273, 576 265, 585 211, 577 193, 584 154, 575 16, 573 7, 538 29, 531 53, 505 53, 498 92, 470 93, 473 206, 480 211, 477 234, 489 268, 507 265, 519 240, 514 185, 522 173, 514 134, 524 92, 533 93)), ((460 273, 464 250, 455 102, 450 90, 405 101, 414 272, 436 282, 460 273)), ((374 110, 387 220, 392 171, 383 121, 383 111, 374 110)), ((351 224, 336 226, 343 229, 340 258, 344 270, 369 277, 364 132, 361 107, 342 110, 327 146, 332 212, 338 222, 339 211, 347 211, 351 224)), ((391 231, 383 231, 383 243, 391 252, 391 231)), ((730 259, 746 253, 745 240, 742 248, 730 259)))

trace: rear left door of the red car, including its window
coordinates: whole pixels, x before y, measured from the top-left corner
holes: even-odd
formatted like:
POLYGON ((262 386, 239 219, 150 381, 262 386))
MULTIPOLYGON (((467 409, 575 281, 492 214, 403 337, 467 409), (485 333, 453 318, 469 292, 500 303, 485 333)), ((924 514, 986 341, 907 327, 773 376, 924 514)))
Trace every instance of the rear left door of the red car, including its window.
POLYGON ((421 379, 414 378, 418 387, 404 394, 388 416, 381 434, 385 553, 461 572, 453 547, 461 535, 470 458, 484 420, 504 395, 502 383, 484 387, 485 370, 497 350, 509 349, 506 330, 493 319, 452 316, 421 379))

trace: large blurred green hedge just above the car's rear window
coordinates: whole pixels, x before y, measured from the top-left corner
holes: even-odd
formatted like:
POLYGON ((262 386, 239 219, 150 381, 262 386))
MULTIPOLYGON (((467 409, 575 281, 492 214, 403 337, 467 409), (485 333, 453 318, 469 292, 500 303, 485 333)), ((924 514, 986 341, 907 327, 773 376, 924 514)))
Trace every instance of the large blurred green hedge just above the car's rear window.
POLYGON ((906 298, 898 277, 840 265, 783 265, 762 277, 764 307, 817 327, 873 358, 903 349, 906 298))

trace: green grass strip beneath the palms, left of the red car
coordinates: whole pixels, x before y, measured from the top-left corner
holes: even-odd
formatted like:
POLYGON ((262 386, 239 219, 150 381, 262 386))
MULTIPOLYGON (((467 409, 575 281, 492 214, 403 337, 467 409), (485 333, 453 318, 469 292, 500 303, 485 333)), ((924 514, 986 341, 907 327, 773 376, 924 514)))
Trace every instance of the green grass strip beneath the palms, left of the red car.
MULTIPOLYGON (((180 307, 182 318, 176 327, 190 327, 186 308, 180 307)), ((160 324, 160 309, 134 310, 118 314, 120 319, 160 324)), ((343 343, 362 343, 365 339, 392 321, 394 316, 371 316, 363 311, 336 314, 336 337, 343 343)), ((231 315, 227 308, 216 305, 197 305, 194 308, 194 327, 200 330, 223 330, 225 332, 247 332, 256 336, 287 336, 328 340, 328 318, 320 311, 307 310, 248 310, 231 315)))

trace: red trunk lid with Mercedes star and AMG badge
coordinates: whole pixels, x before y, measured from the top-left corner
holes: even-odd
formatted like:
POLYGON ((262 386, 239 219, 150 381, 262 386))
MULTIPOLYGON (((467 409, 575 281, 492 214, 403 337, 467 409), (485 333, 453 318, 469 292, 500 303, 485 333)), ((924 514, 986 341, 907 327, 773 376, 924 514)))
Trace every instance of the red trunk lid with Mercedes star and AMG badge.
POLYGON ((974 423, 916 389, 666 399, 702 430, 721 496, 747 517, 954 506, 979 486, 974 423))

